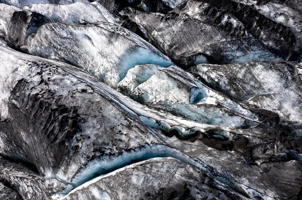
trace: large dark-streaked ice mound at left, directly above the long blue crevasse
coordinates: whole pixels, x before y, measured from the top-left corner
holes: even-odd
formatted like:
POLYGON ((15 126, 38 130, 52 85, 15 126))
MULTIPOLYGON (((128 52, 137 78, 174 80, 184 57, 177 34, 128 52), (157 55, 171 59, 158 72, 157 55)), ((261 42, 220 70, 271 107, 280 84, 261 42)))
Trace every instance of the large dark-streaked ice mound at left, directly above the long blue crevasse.
MULTIPOLYGON (((129 156, 136 159, 135 148, 146 144, 163 145, 163 148, 155 146, 155 149, 149 152, 150 156, 153 153, 154 156, 161 156, 162 153, 165 155, 165 151, 169 152, 169 149, 173 150, 181 145, 179 141, 167 140, 168 143, 163 141, 165 137, 150 130, 139 120, 136 121, 137 116, 124 110, 118 101, 109 103, 108 99, 115 98, 115 92, 111 91, 110 96, 107 93, 110 90, 106 89, 105 85, 93 81, 95 79, 89 74, 63 63, 31 56, 29 58, 28 55, 12 51, 8 47, 3 50, 5 57, 1 58, 1 62, 9 65, 6 65, 8 70, 2 73, 2 78, 10 82, 3 85, 2 92, 8 94, 9 98, 3 99, 2 106, 6 107, 2 107, 1 110, 8 109, 8 115, 2 113, 0 128, 5 132, 14 131, 15 136, 11 138, 7 133, 2 134, 1 143, 4 145, 1 146, 0 152, 18 151, 24 157, 28 156, 44 178, 56 178, 68 183, 77 174, 80 175, 79 171, 84 166, 89 166, 98 158, 115 157, 123 151, 130 151, 129 156), (31 77, 35 77, 34 82, 29 81, 32 80, 31 77), (64 84, 61 85, 62 83, 64 84), (72 95, 66 95, 68 93, 72 95), (34 102, 39 102, 38 104, 43 107, 36 107, 34 102), (27 109, 29 107, 32 109, 27 109), (109 110, 111 116, 102 114, 109 110), (22 114, 23 112, 26 115, 22 114), (124 120, 121 120, 117 113, 124 116, 124 120), (28 126, 23 126, 23 122, 28 126), (38 124, 44 124, 43 128, 41 129, 38 124), (15 149, 8 141, 21 141, 21 146, 15 149), (26 145, 34 148, 26 149, 24 148, 26 145), (45 146, 48 148, 44 150, 45 146), (156 150, 159 150, 159 154, 156 150)), ((210 151, 212 149, 205 150, 205 154, 210 151)), ((188 156, 191 154, 195 157, 194 163, 202 163, 200 167, 206 173, 213 174, 218 179, 221 176, 223 177, 221 180, 226 178, 227 185, 239 185, 233 176, 226 174, 224 177, 225 172, 221 171, 220 167, 211 166, 212 158, 209 160, 203 157, 204 155, 199 157, 191 152, 187 153, 188 156)), ((138 151, 137 158, 141 156, 143 155, 138 151)), ((148 153, 145 156, 148 156, 148 153)), ((167 156, 173 155, 170 153, 167 156)), ((241 191, 241 186, 237 187, 241 191)), ((51 192, 54 194, 58 190, 54 189, 51 192)))

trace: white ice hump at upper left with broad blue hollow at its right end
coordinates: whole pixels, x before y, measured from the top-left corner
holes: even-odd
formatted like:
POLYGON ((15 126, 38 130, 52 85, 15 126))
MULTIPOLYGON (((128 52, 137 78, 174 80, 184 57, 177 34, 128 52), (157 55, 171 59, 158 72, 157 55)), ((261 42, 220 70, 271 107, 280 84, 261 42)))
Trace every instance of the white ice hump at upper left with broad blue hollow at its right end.
POLYGON ((112 87, 136 65, 173 64, 137 35, 110 23, 88 26, 49 23, 30 36, 22 49, 81 67, 112 87), (45 37, 50 40, 44 41, 45 37))

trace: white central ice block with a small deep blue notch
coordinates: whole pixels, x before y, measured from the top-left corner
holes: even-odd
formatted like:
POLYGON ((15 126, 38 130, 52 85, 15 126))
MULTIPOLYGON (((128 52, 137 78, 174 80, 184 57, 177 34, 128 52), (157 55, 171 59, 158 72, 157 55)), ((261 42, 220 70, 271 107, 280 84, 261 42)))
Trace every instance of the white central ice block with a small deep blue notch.
POLYGON ((257 114, 212 91, 176 66, 136 66, 118 84, 118 91, 148 107, 192 121, 231 127, 255 126, 259 122, 257 114))

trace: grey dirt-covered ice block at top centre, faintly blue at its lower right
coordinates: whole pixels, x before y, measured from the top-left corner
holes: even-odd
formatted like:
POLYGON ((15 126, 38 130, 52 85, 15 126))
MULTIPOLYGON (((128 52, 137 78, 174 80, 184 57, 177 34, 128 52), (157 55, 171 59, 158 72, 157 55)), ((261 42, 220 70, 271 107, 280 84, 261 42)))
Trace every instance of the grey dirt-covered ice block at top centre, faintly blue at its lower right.
POLYGON ((130 8, 121 14, 137 23, 148 41, 180 67, 280 59, 258 39, 231 23, 204 22, 174 12, 163 16, 130 8))

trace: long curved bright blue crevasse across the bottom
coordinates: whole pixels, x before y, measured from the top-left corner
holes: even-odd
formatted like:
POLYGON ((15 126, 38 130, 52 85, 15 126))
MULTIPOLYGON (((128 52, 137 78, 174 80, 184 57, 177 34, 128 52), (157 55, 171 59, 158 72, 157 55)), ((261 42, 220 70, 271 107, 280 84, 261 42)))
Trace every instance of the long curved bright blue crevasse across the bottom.
POLYGON ((259 195, 258 197, 261 196, 262 199, 266 199, 264 196, 260 195, 259 192, 255 192, 255 190, 252 188, 242 188, 240 184, 232 180, 232 176, 229 174, 223 173, 217 169, 208 168, 202 161, 194 160, 184 153, 164 145, 145 146, 142 148, 133 149, 131 152, 123 152, 121 155, 112 158, 92 160, 87 164, 84 170, 80 171, 73 177, 73 181, 71 183, 59 178, 60 181, 72 185, 72 188, 63 191, 62 193, 64 195, 68 195, 68 193, 73 189, 77 189, 77 187, 81 187, 97 177, 104 176, 113 171, 118 171, 122 168, 127 168, 127 166, 129 167, 129 165, 135 165, 135 163, 159 157, 172 157, 186 164, 194 165, 208 174, 213 174, 218 181, 228 185, 246 197, 255 197, 255 193, 257 193, 259 195))

